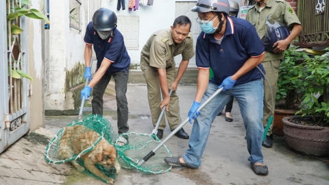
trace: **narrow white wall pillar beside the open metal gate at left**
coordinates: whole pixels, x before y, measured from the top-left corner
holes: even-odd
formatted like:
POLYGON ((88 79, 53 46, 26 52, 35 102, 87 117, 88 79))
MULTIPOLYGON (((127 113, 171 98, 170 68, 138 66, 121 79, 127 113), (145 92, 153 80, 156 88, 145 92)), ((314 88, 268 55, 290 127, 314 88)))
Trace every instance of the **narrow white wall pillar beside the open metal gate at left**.
POLYGON ((66 45, 65 28, 67 26, 64 10, 69 1, 49 1, 49 56, 46 56, 45 109, 64 108, 66 45))

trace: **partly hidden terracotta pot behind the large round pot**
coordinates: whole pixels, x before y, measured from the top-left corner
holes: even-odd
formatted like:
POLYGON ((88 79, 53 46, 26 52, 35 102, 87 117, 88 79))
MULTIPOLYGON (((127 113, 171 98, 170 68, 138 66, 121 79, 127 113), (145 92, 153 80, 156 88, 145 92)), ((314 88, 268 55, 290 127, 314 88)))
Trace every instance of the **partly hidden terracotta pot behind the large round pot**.
POLYGON ((297 110, 284 110, 284 109, 274 110, 274 121, 272 128, 273 134, 276 136, 284 136, 282 119, 285 116, 294 116, 296 112, 297 110))

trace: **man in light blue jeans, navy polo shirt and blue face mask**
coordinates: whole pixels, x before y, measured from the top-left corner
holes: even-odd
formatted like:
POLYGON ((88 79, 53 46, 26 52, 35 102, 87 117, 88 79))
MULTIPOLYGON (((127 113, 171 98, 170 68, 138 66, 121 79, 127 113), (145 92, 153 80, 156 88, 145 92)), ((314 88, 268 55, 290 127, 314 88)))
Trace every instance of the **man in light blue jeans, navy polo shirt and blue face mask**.
POLYGON ((263 43, 249 22, 228 16, 228 0, 199 0, 192 9, 203 32, 197 38, 196 62, 199 68, 197 95, 188 112, 190 123, 195 119, 189 149, 182 158, 164 158, 173 166, 197 169, 201 165, 212 121, 233 97, 239 103, 246 129, 248 160, 254 173, 267 175, 263 164, 263 43), (256 67, 258 66, 259 69, 256 67), (209 82, 209 68, 214 77, 209 82), (219 88, 216 95, 201 111, 201 103, 219 88))

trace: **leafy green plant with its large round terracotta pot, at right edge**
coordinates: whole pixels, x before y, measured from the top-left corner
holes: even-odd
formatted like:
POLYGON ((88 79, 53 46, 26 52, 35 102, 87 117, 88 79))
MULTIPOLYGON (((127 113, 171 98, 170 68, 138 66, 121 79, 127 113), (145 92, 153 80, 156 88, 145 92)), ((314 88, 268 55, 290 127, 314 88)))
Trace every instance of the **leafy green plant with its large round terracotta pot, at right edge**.
POLYGON ((284 137, 289 147, 299 153, 329 156, 329 58, 315 56, 300 65, 304 69, 300 79, 304 80, 305 94, 297 114, 302 115, 282 119, 284 137))

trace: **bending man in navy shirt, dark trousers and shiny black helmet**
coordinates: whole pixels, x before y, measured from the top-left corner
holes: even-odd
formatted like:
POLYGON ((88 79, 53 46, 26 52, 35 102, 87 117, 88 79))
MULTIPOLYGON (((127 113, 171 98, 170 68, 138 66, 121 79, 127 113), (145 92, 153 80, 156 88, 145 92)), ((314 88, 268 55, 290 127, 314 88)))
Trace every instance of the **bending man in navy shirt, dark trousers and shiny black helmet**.
MULTIPOLYGON (((130 56, 128 56, 123 36, 117 27, 117 16, 108 8, 100 8, 94 13, 93 21, 86 28, 84 42, 86 48, 84 50, 84 59, 86 62, 86 71, 84 78, 89 77, 90 60, 93 54, 92 46, 97 58, 97 70, 90 83, 81 91, 81 99, 90 97, 90 91, 93 90, 93 114, 103 114, 103 94, 106 86, 110 82, 111 77, 114 78, 115 92, 117 98, 117 114, 118 114, 118 132, 122 134, 129 130, 128 121, 128 104, 127 82, 130 67, 130 56)), ((125 145, 127 138, 121 136, 118 145, 125 145)))

